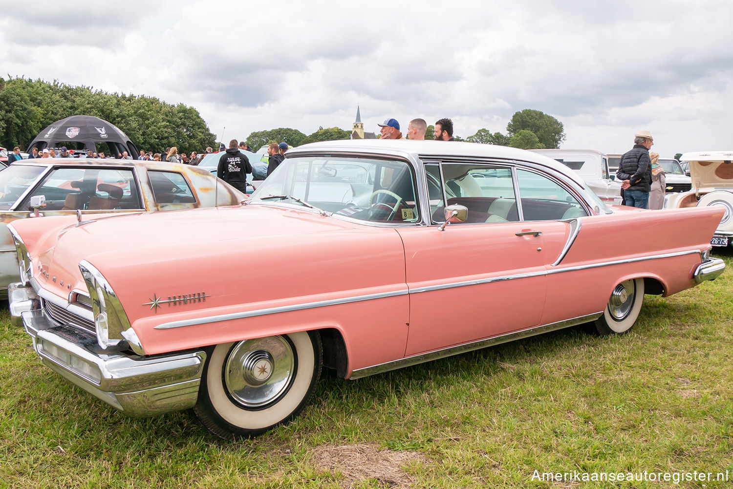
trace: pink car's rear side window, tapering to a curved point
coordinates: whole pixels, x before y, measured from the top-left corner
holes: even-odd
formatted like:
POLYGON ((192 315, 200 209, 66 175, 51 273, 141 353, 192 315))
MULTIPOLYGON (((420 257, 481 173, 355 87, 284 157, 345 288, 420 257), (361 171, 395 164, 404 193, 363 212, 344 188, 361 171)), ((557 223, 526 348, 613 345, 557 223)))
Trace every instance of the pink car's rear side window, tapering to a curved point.
POLYGON ((517 170, 523 221, 587 216, 575 195, 545 175, 517 170))

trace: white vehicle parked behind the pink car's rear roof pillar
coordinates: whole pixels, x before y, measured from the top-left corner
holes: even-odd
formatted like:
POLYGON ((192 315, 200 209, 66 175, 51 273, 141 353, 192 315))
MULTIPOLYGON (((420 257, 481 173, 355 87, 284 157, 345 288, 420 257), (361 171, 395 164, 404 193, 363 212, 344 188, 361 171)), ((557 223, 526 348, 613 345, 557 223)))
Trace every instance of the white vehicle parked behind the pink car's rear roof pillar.
POLYGON ((608 156, 596 150, 532 150, 575 170, 592 191, 608 204, 621 205, 621 184, 608 171, 608 156))

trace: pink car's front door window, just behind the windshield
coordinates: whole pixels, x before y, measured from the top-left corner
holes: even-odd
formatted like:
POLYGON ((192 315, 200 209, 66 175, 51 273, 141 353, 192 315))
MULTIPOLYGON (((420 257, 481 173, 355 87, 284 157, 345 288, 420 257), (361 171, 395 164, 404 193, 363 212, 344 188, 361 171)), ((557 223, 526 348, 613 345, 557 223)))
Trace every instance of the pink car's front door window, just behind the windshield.
POLYGON ((443 163, 442 168, 448 205, 467 207, 466 222, 519 221, 512 169, 483 163, 443 163))

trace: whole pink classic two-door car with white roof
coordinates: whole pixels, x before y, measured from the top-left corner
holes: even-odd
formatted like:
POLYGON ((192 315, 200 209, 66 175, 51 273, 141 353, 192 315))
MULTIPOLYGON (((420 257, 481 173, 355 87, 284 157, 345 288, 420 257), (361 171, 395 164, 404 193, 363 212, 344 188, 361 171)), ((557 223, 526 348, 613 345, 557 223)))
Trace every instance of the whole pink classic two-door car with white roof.
POLYGON ((256 435, 303 409, 322 367, 356 379, 580 323, 622 334, 644 294, 723 272, 721 207, 609 208, 584 185, 488 144, 307 144, 243 205, 12 223, 11 314, 124 413, 193 408, 216 435, 256 435))

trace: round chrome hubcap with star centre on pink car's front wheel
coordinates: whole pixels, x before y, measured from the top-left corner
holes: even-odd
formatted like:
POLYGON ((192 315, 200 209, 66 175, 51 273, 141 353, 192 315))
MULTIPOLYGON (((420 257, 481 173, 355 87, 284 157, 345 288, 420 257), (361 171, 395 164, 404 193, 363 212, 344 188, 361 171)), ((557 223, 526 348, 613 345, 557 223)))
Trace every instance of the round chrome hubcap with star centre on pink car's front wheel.
POLYGON ((224 385, 236 402, 259 408, 276 400, 295 376, 295 354, 284 337, 247 339, 229 353, 224 385))

